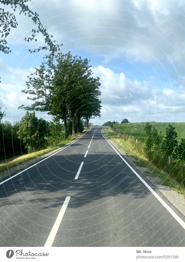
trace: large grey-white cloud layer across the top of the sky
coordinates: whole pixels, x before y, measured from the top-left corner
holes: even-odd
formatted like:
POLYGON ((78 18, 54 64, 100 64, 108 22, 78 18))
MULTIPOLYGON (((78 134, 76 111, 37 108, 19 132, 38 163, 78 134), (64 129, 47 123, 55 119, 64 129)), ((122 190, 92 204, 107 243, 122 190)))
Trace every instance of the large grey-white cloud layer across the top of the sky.
MULTIPOLYGON (((64 43, 63 51, 80 48, 94 54, 135 58, 155 62, 173 59, 184 63, 185 55, 185 5, 178 0, 32 0, 32 9, 40 14, 44 26, 54 38, 64 43), (92 45, 104 45, 93 48, 92 45), (147 46, 143 50, 142 45, 147 46), (106 46, 105 46, 106 45, 106 46), (111 45, 111 47, 109 47, 111 45), (84 48, 85 46, 85 48, 84 48), (129 52, 128 52, 129 51, 129 52)), ((23 15, 18 16, 19 27, 13 30, 9 41, 22 43, 33 23, 23 15)), ((41 40, 41 38, 39 38, 41 40)), ((31 42, 34 47, 39 42, 31 42)))

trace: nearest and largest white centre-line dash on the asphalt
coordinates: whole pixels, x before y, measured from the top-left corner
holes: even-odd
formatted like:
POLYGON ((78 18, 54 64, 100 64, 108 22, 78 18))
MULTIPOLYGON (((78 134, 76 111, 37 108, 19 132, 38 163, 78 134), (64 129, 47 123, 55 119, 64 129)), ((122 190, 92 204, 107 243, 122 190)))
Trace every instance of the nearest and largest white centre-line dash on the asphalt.
POLYGON ((49 234, 49 236, 48 236, 48 238, 47 238, 47 241, 46 241, 44 247, 51 247, 51 246, 52 246, 53 241, 54 241, 55 236, 56 236, 56 233, 57 233, 57 231, 58 231, 58 229, 59 229, 59 227, 60 227, 60 223, 61 223, 62 218, 63 218, 63 216, 64 216, 65 210, 66 210, 66 208, 67 208, 67 206, 68 206, 68 203, 69 203, 69 199, 70 199, 70 198, 71 198, 71 197, 66 197, 66 199, 65 199, 65 201, 64 201, 64 204, 62 205, 62 207, 61 207, 61 209, 60 209, 60 212, 59 212, 59 214, 58 214, 58 217, 57 217, 56 220, 55 220, 55 224, 53 225, 53 227, 52 227, 52 229, 51 229, 51 232, 50 232, 50 234, 49 234))

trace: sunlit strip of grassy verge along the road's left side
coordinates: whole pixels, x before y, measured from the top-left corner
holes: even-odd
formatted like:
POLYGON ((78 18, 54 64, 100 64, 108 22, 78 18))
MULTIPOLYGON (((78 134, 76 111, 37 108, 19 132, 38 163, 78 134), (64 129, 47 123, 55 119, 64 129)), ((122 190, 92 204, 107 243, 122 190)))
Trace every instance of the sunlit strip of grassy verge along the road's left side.
MULTIPOLYGON (((78 138, 78 134, 76 135, 76 138, 78 138)), ((42 149, 36 152, 32 152, 30 154, 24 154, 21 156, 15 156, 14 158, 6 159, 0 162, 0 172, 3 172, 5 170, 8 170, 9 168, 15 167, 18 164, 22 164, 28 160, 35 159, 38 156, 43 156, 46 153, 49 153, 55 149, 61 148, 67 143, 70 143, 72 140, 74 140, 75 137, 71 136, 69 139, 66 139, 59 144, 55 146, 48 147, 46 149, 42 149)))

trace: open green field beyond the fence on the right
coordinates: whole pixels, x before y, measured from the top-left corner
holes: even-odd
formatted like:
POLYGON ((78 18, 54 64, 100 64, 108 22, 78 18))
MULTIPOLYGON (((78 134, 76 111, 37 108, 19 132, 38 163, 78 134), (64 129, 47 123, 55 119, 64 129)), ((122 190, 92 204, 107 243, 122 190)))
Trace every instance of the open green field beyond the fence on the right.
MULTIPOLYGON (((157 123, 157 122, 149 122, 152 124, 155 128, 162 131, 162 136, 165 136, 165 129, 168 126, 168 124, 171 124, 173 127, 175 127, 175 130, 177 132, 177 140, 180 140, 181 138, 185 138, 185 123, 157 123)), ((146 138, 146 132, 144 130, 144 124, 145 122, 141 123, 128 123, 128 124, 116 124, 113 127, 118 128, 118 130, 127 135, 133 135, 135 138, 144 141, 146 138)))

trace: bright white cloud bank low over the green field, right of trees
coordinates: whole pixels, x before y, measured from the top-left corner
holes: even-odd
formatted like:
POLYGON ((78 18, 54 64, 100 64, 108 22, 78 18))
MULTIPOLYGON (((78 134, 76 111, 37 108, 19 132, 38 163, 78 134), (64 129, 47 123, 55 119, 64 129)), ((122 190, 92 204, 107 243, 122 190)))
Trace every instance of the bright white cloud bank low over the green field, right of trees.
POLYGON ((149 81, 128 79, 124 73, 117 74, 103 66, 93 68, 93 72, 101 82, 102 119, 183 121, 180 114, 185 111, 185 97, 177 91, 159 89, 149 81))

